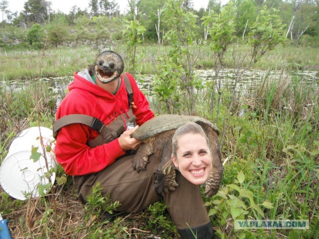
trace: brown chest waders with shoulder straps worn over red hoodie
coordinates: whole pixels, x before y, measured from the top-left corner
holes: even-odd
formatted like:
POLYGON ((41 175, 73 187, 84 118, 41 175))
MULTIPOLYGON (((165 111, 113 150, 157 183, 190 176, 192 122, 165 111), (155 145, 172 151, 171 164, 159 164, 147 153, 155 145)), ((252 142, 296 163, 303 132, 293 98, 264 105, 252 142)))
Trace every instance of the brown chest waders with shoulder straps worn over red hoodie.
MULTIPOLYGON (((126 74, 124 74, 125 78, 126 74)), ((129 118, 127 119, 125 114, 123 116, 126 117, 125 119, 128 122, 135 122, 136 118, 131 108, 133 92, 130 94, 128 89, 131 88, 131 84, 129 87, 126 84, 126 88, 130 104, 129 118)), ((57 120, 53 125, 53 132, 56 136, 57 131, 67 124, 84 123, 100 132, 96 139, 87 142, 89 147, 96 147, 116 139, 124 131, 124 122, 122 118, 119 118, 121 117, 117 118, 118 122, 115 122, 115 120, 112 124, 106 126, 100 120, 90 116, 70 115, 57 120), (118 127, 118 125, 123 127, 118 127)), ((150 162, 146 165, 146 170, 138 173, 133 169, 133 157, 134 155, 120 157, 113 164, 97 173, 73 176, 79 200, 85 204, 87 196, 91 194, 92 187, 97 182, 100 183, 103 196, 110 196, 112 201, 120 202, 120 206, 117 208, 118 212, 138 213, 163 198, 182 239, 194 238, 192 232, 199 236, 197 239, 210 238, 210 220, 199 186, 190 183, 176 171, 176 182, 178 183, 176 189, 159 195, 154 187, 159 160, 152 154, 149 158, 150 162), (191 231, 189 231, 189 227, 191 231), (208 230, 207 233, 206 230, 208 230)))

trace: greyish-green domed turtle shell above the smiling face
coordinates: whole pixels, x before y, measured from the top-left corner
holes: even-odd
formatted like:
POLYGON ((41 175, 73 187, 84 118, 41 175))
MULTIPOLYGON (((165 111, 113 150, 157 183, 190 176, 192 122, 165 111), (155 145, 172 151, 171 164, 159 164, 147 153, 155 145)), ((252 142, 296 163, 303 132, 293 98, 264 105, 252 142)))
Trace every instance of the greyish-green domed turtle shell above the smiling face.
POLYGON ((207 124, 219 134, 218 128, 207 119, 197 116, 161 115, 142 124, 137 130, 135 130, 135 132, 132 134, 132 137, 144 141, 163 131, 176 129, 187 122, 207 124))

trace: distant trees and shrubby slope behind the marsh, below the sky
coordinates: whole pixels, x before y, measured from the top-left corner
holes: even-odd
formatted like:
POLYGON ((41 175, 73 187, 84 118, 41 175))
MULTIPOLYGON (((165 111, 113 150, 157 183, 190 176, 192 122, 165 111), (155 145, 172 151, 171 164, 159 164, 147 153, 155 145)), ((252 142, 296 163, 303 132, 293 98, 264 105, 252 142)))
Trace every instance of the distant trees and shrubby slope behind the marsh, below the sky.
MULTIPOLYGON (((126 28, 125 22, 130 21, 145 27, 144 42, 160 44, 169 30, 165 18, 166 1, 128 0, 129 9, 123 14, 114 0, 90 0, 86 9, 74 5, 66 14, 54 11, 52 2, 47 0, 26 0, 21 12, 12 12, 8 1, 1 0, 0 46, 32 45, 27 35, 39 34, 34 33, 34 29, 30 32, 35 24, 36 30, 44 32, 39 37, 46 37, 54 46, 79 39, 120 40, 126 28)), ((197 16, 194 33, 203 40, 207 39, 207 31, 202 17, 218 15, 225 7, 219 0, 209 0, 207 7, 199 10, 193 8, 192 0, 169 1, 182 2, 185 12, 190 11, 197 16)), ((235 34, 240 39, 249 33, 260 10, 274 8, 285 25, 285 36, 289 41, 295 45, 319 46, 319 0, 230 0, 227 4, 233 5, 235 34)), ((41 44, 33 44, 33 47, 41 47, 41 44)))

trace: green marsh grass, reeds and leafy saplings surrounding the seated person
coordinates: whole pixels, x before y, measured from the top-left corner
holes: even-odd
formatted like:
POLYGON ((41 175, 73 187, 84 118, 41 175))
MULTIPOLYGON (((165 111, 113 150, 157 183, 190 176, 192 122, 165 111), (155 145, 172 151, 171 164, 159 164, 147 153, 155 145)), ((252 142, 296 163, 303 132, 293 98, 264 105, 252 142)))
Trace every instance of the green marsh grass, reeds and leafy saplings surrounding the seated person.
MULTIPOLYGON (((220 129, 222 185, 205 199, 216 234, 318 238, 318 48, 287 45, 278 14, 267 8, 242 41, 231 5, 201 19, 208 33, 199 43, 193 28, 197 16, 181 1, 165 7, 170 29, 165 44, 143 43, 144 28, 135 19, 124 23, 123 40, 108 48, 123 56, 126 71, 141 86, 148 81, 144 90, 156 115, 197 115, 220 129), (312 70, 311 82, 301 70, 312 70), (245 88, 248 81, 253 87, 245 88), (304 219, 310 229, 238 231, 236 219, 304 219)), ((0 51, 0 162, 22 129, 51 128, 73 73, 92 64, 96 51, 95 46, 0 51), (55 77, 66 78, 56 87, 55 77)), ((116 214, 117 202, 102 197, 97 185, 83 206, 60 166, 56 182, 46 186, 50 193, 26 201, 0 187, 0 212, 14 238, 178 238, 162 202, 139 214, 116 214)))

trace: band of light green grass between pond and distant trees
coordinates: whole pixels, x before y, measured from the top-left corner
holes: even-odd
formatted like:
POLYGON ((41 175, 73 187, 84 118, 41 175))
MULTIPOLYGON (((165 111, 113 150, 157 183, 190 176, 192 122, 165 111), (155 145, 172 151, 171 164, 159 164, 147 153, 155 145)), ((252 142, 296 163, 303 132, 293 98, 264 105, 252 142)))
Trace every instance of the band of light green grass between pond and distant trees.
MULTIPOLYGON (((114 44, 112 50, 120 53, 126 60, 125 49, 121 44, 114 44)), ((145 44, 137 48, 138 55, 144 57, 139 60, 138 74, 152 74, 155 72, 157 57, 168 50, 167 46, 157 44, 145 44)), ((246 45, 239 44, 234 47, 234 55, 245 54, 248 50, 246 45)), ((0 78, 1 80, 32 79, 37 77, 72 76, 75 71, 80 71, 88 64, 93 64, 97 49, 90 46, 76 48, 60 47, 40 50, 11 50, 0 51, 0 78), (41 69, 41 70, 39 70, 41 69)), ((277 46, 275 50, 268 52, 254 66, 256 69, 287 69, 296 70, 309 67, 317 67, 319 56, 317 48, 277 46)), ((249 53, 247 53, 249 54, 249 53)), ((207 45, 201 47, 201 52, 196 61, 196 67, 212 68, 213 53, 207 45)), ((248 64, 246 57, 243 66, 248 64)), ((225 60, 225 67, 232 68, 232 55, 225 60)))

